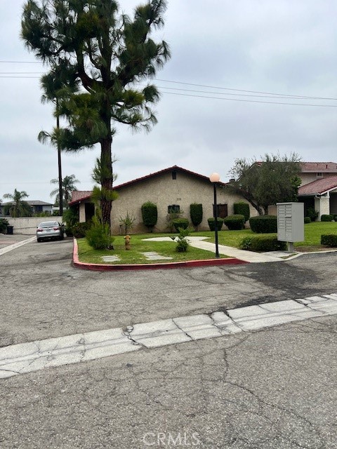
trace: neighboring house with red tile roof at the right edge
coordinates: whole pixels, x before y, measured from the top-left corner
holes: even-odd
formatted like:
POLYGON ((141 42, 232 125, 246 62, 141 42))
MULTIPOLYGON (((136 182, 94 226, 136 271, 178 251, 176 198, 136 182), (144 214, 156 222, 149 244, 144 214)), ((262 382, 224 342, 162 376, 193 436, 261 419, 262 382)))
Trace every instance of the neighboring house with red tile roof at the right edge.
POLYGON ((337 215, 337 163, 302 162, 298 189, 298 201, 304 209, 315 208, 321 215, 337 215))

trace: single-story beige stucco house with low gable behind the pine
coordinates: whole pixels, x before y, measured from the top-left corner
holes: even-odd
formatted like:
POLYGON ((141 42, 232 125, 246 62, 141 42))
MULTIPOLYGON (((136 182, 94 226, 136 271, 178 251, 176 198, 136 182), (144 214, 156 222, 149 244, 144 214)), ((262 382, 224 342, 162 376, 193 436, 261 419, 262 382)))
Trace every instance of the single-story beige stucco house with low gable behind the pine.
MULTIPOLYGON (((233 203, 244 201, 241 196, 227 194, 218 183, 218 216, 227 217, 234 213, 233 203)), ((173 166, 156 173, 140 177, 136 180, 125 182, 114 187, 119 194, 118 199, 112 203, 111 227, 113 234, 121 234, 120 219, 126 213, 136 217, 133 232, 147 232, 143 225, 141 206, 147 201, 157 204, 158 221, 155 232, 166 232, 169 229, 168 215, 170 211, 180 212, 182 217, 190 220, 190 204, 201 203, 203 206, 203 220, 199 229, 209 230, 207 219, 213 217, 213 184, 209 177, 199 175, 185 168, 173 166)), ((89 220, 95 210, 91 203, 91 192, 72 192, 70 206, 77 206, 79 221, 89 220)), ((251 215, 256 215, 256 210, 251 208, 251 215)))

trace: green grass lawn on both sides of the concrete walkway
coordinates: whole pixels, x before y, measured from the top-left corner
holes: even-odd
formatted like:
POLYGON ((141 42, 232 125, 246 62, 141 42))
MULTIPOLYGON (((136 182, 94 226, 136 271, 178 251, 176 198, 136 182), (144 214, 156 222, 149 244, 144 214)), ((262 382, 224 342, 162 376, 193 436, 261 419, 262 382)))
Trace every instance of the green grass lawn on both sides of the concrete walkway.
MULTIPOLYGON (((240 242, 249 234, 253 234, 251 229, 242 229, 242 231, 222 230, 218 233, 218 241, 220 245, 233 246, 239 248, 240 242)), ((305 241, 296 242, 295 248, 300 247, 302 250, 316 250, 323 248, 320 244, 322 234, 337 234, 337 222, 313 222, 304 225, 305 241)), ((182 262, 184 260, 205 260, 213 259, 214 255, 211 251, 199 250, 190 246, 186 253, 176 252, 176 243, 173 241, 143 241, 152 237, 176 236, 178 234, 132 234, 131 250, 126 251, 124 245, 124 237, 116 236, 114 239, 114 250, 93 250, 86 239, 79 239, 79 261, 88 263, 111 263, 111 264, 150 264, 165 262, 182 262), (166 257, 172 257, 171 260, 147 260, 141 254, 149 251, 166 257), (103 262, 102 256, 117 255, 119 262, 103 262)), ((194 232, 192 235, 209 237, 207 241, 214 242, 214 232, 194 232)), ((272 234, 255 234, 255 235, 272 235, 272 234)), ((225 256, 221 256, 225 257, 225 256)))

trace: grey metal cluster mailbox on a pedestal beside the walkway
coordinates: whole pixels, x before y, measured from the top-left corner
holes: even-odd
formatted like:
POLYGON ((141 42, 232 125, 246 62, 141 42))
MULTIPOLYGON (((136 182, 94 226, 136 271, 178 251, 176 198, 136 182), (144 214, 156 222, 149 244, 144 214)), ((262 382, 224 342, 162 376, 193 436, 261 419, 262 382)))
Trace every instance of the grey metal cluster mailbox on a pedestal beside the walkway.
POLYGON ((304 240, 304 204, 277 203, 277 240, 286 241, 293 253, 293 242, 304 240))

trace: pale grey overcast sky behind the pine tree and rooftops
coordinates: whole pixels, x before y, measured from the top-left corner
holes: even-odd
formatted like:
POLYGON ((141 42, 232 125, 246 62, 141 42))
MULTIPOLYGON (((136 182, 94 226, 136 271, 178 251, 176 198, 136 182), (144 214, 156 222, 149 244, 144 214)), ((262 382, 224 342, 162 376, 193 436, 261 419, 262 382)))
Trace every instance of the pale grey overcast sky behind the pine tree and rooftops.
MULTIPOLYGON (((128 13, 140 3, 119 2, 128 13)), ((37 135, 55 119, 40 100, 39 76, 47 68, 19 37, 23 4, 0 2, 0 199, 16 188, 30 200, 53 202, 57 153, 37 135)), ((217 171, 226 181, 236 158, 265 153, 337 161, 336 1, 168 4, 160 36, 172 58, 154 81, 159 123, 147 134, 119 126, 117 184, 173 165, 206 176, 217 171)), ((63 177, 74 174, 79 190, 91 189, 99 154, 98 147, 62 154, 63 177)))

